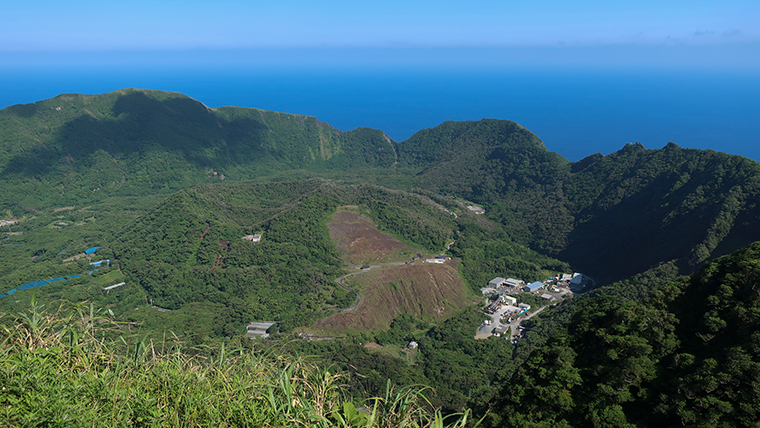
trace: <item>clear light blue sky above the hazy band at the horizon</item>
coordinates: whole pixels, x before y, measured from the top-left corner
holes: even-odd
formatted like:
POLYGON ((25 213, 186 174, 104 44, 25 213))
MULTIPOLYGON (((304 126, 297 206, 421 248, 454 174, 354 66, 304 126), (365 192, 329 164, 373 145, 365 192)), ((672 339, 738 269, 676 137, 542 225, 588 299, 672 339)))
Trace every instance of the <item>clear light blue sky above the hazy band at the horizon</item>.
POLYGON ((507 49, 512 58, 560 63, 580 56, 612 65, 760 64, 758 0, 28 0, 5 2, 0 16, 4 61, 68 52, 374 48, 396 50, 403 62, 416 56, 408 52, 427 49, 437 58, 431 48, 444 48, 481 49, 468 59, 486 62, 489 50, 507 49))

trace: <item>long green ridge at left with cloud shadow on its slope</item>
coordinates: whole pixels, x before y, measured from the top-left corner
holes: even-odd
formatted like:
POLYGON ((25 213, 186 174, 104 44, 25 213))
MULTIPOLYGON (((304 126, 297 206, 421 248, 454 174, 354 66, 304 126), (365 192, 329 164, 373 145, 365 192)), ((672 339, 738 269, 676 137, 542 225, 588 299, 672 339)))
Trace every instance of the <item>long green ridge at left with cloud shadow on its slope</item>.
POLYGON ((176 93, 69 94, 0 111, 6 183, 0 204, 20 211, 45 202, 178 190, 222 177, 395 161, 393 142, 381 131, 340 132, 310 116, 209 109, 176 93))

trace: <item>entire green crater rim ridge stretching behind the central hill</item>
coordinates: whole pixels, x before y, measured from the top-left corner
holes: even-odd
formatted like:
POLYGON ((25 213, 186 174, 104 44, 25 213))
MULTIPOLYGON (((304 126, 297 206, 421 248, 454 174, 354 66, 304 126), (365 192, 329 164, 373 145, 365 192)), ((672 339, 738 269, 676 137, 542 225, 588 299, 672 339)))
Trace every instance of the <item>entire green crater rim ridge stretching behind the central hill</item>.
POLYGON ((670 261, 690 273, 760 239, 754 161, 670 143, 572 163, 496 119, 444 122, 396 143, 310 116, 125 89, 0 111, 0 147, 0 207, 11 212, 222 180, 364 181, 478 202, 515 242, 600 283, 670 261))

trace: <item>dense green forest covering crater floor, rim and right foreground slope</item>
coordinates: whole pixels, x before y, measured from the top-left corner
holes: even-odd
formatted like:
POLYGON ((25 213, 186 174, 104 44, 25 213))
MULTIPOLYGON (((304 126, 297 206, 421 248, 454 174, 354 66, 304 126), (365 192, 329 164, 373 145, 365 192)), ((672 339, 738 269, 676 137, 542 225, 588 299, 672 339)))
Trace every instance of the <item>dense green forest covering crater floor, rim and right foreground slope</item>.
MULTIPOLYGON (((277 324, 262 349, 309 355, 347 376, 336 392, 346 399, 333 402, 351 403, 346 414, 386 394, 391 378, 433 388, 419 412, 474 409, 492 426, 757 424, 754 161, 670 143, 569 162, 493 119, 445 122, 399 143, 379 130, 134 89, 6 108, 0 148, 0 313, 15 314, 3 318, 7 337, 35 300, 86 301, 130 340, 170 338, 182 348, 171 358, 186 361, 222 344, 246 348, 245 325, 269 320, 277 324), (386 331, 304 341, 298 332, 359 298, 336 283, 358 268, 341 260, 326 226, 346 206, 413 252, 458 259, 473 296, 496 276, 532 282, 571 271, 598 288, 526 321, 516 344, 473 339, 475 307, 435 323, 402 313, 386 331), (243 239, 253 234, 261 241, 243 239)), ((145 352, 98 340, 113 361, 145 352)), ((9 343, 0 345, 5 368, 24 349, 9 343)), ((56 346, 46 361, 68 364, 73 354, 56 346)), ((156 358, 150 370, 171 365, 156 358)), ((133 411, 145 418, 148 409, 133 411)), ((34 421, 68 417, 56 412, 34 421)), ((173 415, 161 417, 190 417, 173 415)))

